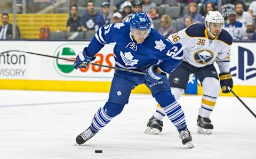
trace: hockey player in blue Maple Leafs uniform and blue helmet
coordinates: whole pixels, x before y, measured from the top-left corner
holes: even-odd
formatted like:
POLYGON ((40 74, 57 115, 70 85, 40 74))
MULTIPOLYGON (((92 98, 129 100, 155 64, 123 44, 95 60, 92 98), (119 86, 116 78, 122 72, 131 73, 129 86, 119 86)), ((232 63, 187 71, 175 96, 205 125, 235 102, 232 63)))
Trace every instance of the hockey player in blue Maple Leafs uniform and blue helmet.
POLYGON ((166 77, 166 73, 172 72, 180 65, 183 58, 182 45, 172 45, 156 30, 150 28, 150 20, 145 13, 135 12, 130 22, 101 27, 89 46, 76 57, 74 68, 86 67, 87 62, 93 61, 94 55, 104 45, 114 42, 116 67, 146 72, 146 75, 116 70, 108 102, 95 113, 90 127, 77 136, 77 144, 84 144, 121 113, 129 101, 131 90, 145 83, 178 129, 182 144, 189 148, 194 147, 185 115, 180 104, 175 101, 166 77))

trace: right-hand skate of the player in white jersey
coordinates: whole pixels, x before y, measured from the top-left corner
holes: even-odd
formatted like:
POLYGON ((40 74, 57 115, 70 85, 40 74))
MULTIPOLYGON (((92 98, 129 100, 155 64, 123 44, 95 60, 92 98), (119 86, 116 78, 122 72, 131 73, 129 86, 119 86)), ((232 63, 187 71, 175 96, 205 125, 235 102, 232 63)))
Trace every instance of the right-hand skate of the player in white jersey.
POLYGON ((210 134, 212 133, 213 125, 209 118, 203 118, 202 116, 198 115, 197 117, 197 132, 203 134, 210 134))

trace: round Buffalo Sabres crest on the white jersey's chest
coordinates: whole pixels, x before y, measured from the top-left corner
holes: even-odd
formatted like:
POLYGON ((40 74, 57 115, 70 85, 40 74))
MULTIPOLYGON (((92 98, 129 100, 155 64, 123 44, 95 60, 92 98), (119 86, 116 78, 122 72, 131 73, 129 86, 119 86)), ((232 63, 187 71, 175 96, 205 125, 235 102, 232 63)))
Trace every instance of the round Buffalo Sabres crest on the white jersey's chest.
POLYGON ((209 63, 214 57, 210 50, 201 50, 194 53, 194 60, 199 64, 209 63))

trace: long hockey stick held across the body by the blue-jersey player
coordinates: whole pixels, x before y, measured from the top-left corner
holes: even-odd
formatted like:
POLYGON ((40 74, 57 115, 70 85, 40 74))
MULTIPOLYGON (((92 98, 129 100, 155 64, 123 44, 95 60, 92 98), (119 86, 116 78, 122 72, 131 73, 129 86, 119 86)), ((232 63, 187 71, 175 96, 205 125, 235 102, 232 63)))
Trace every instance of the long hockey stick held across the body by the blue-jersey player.
MULTIPOLYGON (((73 62, 76 61, 76 60, 73 60, 73 59, 70 59, 70 58, 63 58, 63 57, 44 55, 44 54, 38 54, 38 53, 31 53, 31 52, 25 52, 25 51, 18 51, 18 50, 5 51, 5 52, 2 52, 1 54, 5 54, 5 53, 9 53, 9 52, 20 52, 20 53, 27 53, 27 54, 33 54, 33 55, 39 55, 39 56, 45 56, 45 57, 52 57, 52 58, 57 58, 57 59, 60 59, 60 60, 67 60, 67 61, 73 61, 73 62)), ((134 70, 124 69, 124 68, 116 68, 114 66, 107 66, 107 65, 98 64, 98 63, 91 63, 91 62, 88 62, 88 63, 91 64, 91 65, 102 66, 104 68, 111 68, 111 69, 116 69, 116 70, 125 71, 125 72, 137 73, 137 74, 142 74, 142 75, 146 74, 145 72, 134 71, 134 70)))

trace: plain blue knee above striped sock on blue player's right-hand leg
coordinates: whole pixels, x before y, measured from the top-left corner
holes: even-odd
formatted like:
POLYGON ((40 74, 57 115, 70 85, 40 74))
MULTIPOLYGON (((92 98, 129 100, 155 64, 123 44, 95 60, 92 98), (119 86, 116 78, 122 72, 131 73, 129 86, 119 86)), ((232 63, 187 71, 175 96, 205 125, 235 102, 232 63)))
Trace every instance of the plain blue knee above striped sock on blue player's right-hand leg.
POLYGON ((160 104, 163 108, 175 102, 175 98, 172 95, 171 91, 161 91, 155 94, 154 97, 156 99, 156 102, 160 104))

